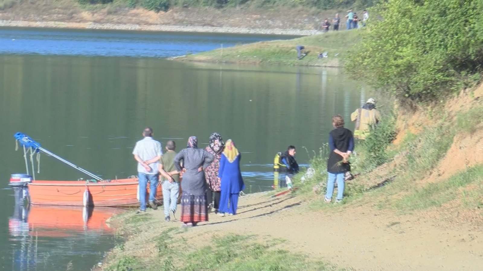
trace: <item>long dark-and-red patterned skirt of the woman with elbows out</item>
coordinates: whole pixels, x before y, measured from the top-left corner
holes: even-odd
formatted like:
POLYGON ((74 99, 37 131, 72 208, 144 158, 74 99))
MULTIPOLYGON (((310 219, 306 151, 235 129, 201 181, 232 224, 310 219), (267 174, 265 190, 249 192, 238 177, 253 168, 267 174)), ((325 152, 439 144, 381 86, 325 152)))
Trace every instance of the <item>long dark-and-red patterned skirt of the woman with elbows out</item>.
POLYGON ((181 195, 180 221, 185 223, 208 221, 206 195, 194 196, 183 191, 181 195))

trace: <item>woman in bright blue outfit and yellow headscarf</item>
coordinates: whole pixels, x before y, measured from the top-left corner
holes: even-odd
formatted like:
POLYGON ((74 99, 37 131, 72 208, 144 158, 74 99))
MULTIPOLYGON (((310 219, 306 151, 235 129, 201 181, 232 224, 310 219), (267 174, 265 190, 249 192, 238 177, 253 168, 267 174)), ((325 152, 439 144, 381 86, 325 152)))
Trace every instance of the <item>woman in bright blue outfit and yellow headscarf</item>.
POLYGON ((237 213, 238 195, 245 188, 240 170, 240 152, 231 139, 227 140, 221 155, 218 177, 221 179, 221 195, 218 214, 235 215, 237 213))

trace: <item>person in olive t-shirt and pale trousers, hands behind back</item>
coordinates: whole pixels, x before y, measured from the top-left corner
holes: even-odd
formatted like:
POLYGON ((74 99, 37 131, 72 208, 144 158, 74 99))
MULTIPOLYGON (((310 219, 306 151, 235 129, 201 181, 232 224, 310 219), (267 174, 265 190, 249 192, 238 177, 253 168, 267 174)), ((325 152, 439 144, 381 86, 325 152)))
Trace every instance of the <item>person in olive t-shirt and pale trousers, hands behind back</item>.
POLYGON ((176 156, 176 144, 173 140, 166 142, 166 153, 159 160, 159 173, 163 185, 163 205, 164 220, 170 221, 170 212, 176 213, 178 196, 180 192, 179 172, 174 166, 174 156, 176 156))

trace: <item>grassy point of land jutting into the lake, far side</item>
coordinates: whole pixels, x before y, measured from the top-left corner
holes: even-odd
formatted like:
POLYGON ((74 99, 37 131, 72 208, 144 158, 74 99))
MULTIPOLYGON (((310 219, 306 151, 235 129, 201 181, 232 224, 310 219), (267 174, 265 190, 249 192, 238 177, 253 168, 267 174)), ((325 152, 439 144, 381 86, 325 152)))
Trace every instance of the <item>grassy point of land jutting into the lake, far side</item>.
POLYGON ((261 41, 234 47, 189 54, 176 60, 199 62, 256 63, 298 66, 339 67, 341 59, 353 45, 362 39, 364 30, 337 31, 285 41, 261 41), (295 46, 304 45, 309 52, 303 59, 297 59, 295 46), (327 58, 317 54, 327 51, 327 58))

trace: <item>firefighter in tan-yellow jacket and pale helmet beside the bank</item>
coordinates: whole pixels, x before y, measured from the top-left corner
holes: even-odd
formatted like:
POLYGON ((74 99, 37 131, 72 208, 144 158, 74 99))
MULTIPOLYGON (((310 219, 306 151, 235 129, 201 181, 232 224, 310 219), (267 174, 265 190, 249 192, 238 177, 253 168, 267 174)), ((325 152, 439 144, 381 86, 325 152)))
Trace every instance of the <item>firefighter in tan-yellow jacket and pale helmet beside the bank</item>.
POLYGON ((381 115, 376 109, 376 100, 369 98, 362 108, 357 108, 351 114, 351 121, 355 122, 354 137, 366 139, 369 127, 374 128, 380 119, 381 115))

